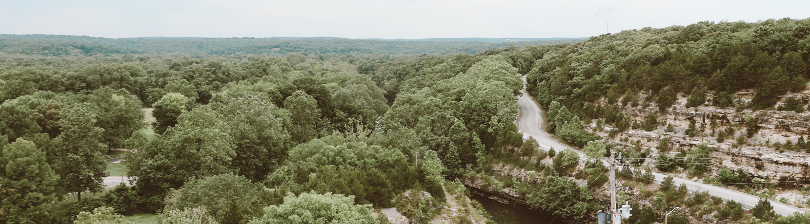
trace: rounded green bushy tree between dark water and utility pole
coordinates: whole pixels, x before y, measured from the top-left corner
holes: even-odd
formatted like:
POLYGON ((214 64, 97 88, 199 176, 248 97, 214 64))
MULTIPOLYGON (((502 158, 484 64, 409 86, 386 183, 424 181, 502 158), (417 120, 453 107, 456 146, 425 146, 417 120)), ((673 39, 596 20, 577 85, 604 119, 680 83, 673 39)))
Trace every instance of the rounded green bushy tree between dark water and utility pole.
POLYGON ((527 195, 527 203, 533 209, 552 211, 563 218, 582 218, 591 199, 587 188, 563 177, 549 175, 540 178, 536 188, 527 195))

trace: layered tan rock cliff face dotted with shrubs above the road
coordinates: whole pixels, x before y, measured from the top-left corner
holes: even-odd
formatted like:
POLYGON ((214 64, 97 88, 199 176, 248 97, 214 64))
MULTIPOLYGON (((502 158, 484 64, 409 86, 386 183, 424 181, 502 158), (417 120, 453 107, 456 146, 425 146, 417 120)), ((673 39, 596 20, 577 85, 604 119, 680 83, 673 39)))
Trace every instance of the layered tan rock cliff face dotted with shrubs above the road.
MULTIPOLYGON (((747 97, 744 92, 739 94, 743 98, 747 97)), ((782 98, 789 96, 810 98, 804 95, 785 95, 782 98)), ((633 146, 629 142, 641 141, 641 144, 637 144, 641 146, 640 150, 650 152, 645 165, 652 165, 654 158, 659 154, 673 155, 684 148, 706 142, 708 146, 715 149, 711 155, 718 157, 713 161, 714 173, 722 167, 733 170, 743 168, 753 175, 753 178, 779 181, 782 182, 780 186, 785 188, 803 187, 805 184, 810 184, 810 182, 787 182, 810 180, 810 154, 806 153, 804 149, 777 150, 774 147, 777 142, 781 145, 786 142, 795 144, 799 142, 800 136, 806 137, 810 134, 810 112, 752 111, 751 109, 711 106, 686 108, 685 102, 686 99, 681 98, 675 106, 668 108, 667 112, 663 114, 659 112, 659 126, 650 131, 630 129, 615 137, 608 137, 610 130, 615 127, 605 125, 602 131, 599 131, 596 124, 592 123, 589 125, 589 129, 607 138, 607 142, 616 146, 617 149, 630 148, 633 146), (746 117, 749 119, 747 120, 746 117), (753 118, 753 121, 750 118, 753 118), (696 121, 695 132, 698 134, 693 137, 684 133, 689 127, 690 120, 696 121), (712 125, 712 120, 714 120, 714 125, 712 125), (736 138, 745 135, 745 126, 750 125, 746 122, 757 122, 757 133, 750 138, 744 138, 743 142, 738 142, 736 138), (667 125, 672 125, 674 131, 667 132, 667 125), (712 129, 713 126, 714 129, 712 129), (718 142, 718 132, 726 129, 733 129, 734 134, 724 141, 718 142), (657 149, 659 144, 666 140, 674 150, 657 149)), ((606 104, 606 102, 602 103, 606 104)), ((635 122, 641 123, 647 114, 657 111, 657 107, 654 106, 654 103, 652 104, 635 108, 627 106, 622 108, 621 112, 631 116, 635 122)))

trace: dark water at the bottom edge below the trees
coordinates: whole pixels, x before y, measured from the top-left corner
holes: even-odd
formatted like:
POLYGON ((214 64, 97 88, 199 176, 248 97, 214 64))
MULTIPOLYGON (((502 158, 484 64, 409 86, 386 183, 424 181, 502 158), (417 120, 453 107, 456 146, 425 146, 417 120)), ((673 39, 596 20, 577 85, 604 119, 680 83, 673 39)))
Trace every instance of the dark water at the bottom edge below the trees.
POLYGON ((518 209, 488 197, 483 197, 475 192, 472 193, 470 198, 481 202, 484 209, 487 209, 487 212, 492 215, 492 219, 498 224, 567 224, 562 222, 561 218, 557 218, 552 222, 552 219, 554 219, 552 214, 518 209))

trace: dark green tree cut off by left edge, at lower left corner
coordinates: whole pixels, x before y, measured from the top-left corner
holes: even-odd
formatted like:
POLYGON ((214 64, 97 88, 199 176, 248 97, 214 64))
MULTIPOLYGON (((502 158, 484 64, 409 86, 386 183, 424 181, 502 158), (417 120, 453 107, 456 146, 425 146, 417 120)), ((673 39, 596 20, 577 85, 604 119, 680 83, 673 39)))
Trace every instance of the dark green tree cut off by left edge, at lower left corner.
POLYGON ((45 152, 22 138, 6 145, 0 136, 0 222, 49 223, 59 176, 45 152), (6 145, 3 147, 2 145, 6 145))

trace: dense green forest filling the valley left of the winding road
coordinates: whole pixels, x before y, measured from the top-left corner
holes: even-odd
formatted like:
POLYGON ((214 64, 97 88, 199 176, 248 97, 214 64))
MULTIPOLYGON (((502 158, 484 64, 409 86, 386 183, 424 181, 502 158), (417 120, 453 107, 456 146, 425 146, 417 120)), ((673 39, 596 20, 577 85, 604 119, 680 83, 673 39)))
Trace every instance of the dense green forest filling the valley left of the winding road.
MULTIPOLYGON (((432 49, 420 57, 306 50, 285 57, 175 57, 117 53, 76 40, 13 41, 23 44, 0 57, 0 149, 38 159, 43 171, 36 178, 49 182, 30 193, 48 197, 24 202, 39 210, 0 218, 33 222, 71 222, 100 208, 99 215, 162 211, 164 220, 196 213, 245 223, 267 218, 268 206, 309 197, 362 205, 361 216, 372 206, 416 208, 409 218, 427 222, 441 211, 445 188, 461 185, 450 180, 481 171, 499 154, 499 139, 519 139, 512 121, 521 74, 544 53, 567 46, 444 55, 432 49), (109 54, 56 53, 62 43, 109 54), (154 122, 143 123, 142 108, 151 108, 154 122), (130 150, 124 163, 134 186, 81 200, 66 217, 39 215, 54 198, 100 192, 104 152, 116 148, 130 150), (203 193, 211 189, 233 193, 203 193), (433 197, 403 197, 413 189, 433 197), (228 204, 225 197, 243 200, 228 204)), ((383 48, 373 52, 386 47, 376 43, 406 43, 295 41, 383 48)), ((0 165, 15 159, 4 157, 0 165)), ((12 183, 7 186, 25 178, 0 175, 12 183)), ((10 210, 20 200, 0 204, 10 210)))

